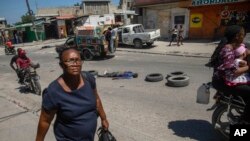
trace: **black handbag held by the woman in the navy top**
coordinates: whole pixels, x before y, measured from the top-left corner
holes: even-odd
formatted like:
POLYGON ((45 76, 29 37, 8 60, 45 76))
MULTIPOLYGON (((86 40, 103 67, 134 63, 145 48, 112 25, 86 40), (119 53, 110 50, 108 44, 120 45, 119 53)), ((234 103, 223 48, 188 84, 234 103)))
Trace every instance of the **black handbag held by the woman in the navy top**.
POLYGON ((111 134, 109 130, 105 130, 102 127, 99 127, 97 130, 98 141, 116 141, 115 137, 111 134))

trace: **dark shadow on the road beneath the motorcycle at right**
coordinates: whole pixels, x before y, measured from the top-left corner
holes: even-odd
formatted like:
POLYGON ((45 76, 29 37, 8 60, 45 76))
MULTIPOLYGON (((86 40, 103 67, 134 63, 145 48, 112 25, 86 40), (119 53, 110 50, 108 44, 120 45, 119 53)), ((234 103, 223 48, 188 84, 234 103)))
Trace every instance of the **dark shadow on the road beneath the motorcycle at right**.
POLYGON ((221 137, 215 132, 212 125, 205 120, 179 120, 171 121, 168 128, 174 134, 183 138, 190 138, 198 141, 221 141, 221 137))

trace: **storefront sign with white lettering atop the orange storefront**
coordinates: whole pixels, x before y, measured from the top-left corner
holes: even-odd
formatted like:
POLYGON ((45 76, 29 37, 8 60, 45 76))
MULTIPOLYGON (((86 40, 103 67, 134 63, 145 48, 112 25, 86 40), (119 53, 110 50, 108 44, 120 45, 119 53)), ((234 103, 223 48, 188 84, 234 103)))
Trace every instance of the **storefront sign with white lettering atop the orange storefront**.
POLYGON ((242 2, 246 0, 192 0, 192 6, 242 2))

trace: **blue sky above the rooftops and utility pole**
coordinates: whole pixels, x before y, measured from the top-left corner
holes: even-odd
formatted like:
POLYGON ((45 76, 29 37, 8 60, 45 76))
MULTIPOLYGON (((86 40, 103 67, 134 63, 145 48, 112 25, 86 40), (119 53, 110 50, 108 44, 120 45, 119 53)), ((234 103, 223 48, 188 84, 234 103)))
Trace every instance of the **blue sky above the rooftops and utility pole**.
MULTIPOLYGON (((82 0, 29 0, 31 10, 36 13, 37 8, 73 6, 82 0)), ((118 5, 119 0, 111 0, 118 5)), ((21 21, 21 16, 28 12, 26 0, 0 0, 0 18, 5 18, 8 24, 21 21)))

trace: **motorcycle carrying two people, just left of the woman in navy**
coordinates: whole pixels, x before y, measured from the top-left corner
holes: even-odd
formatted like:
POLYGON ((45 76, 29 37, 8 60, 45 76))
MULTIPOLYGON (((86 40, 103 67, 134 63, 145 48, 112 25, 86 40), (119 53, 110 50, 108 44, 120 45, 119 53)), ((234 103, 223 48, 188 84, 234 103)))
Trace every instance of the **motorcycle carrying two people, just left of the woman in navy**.
POLYGON ((31 64, 29 68, 24 70, 25 72, 23 80, 25 87, 37 95, 41 95, 41 84, 39 82, 40 77, 36 72, 36 69, 39 67, 39 64, 31 64))

